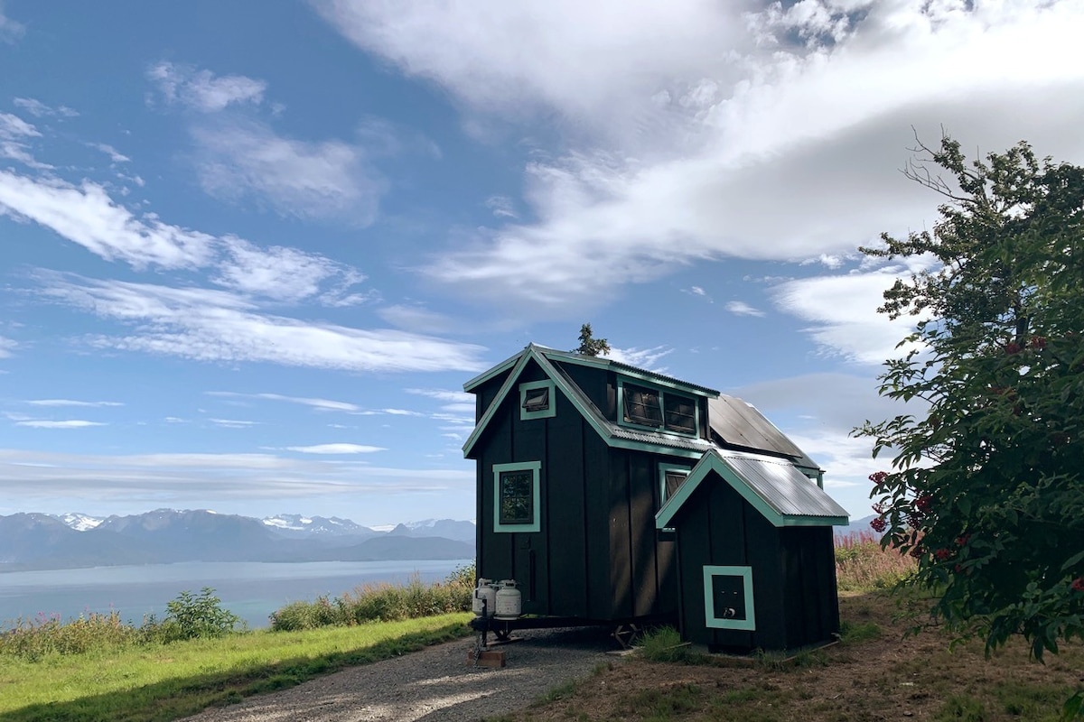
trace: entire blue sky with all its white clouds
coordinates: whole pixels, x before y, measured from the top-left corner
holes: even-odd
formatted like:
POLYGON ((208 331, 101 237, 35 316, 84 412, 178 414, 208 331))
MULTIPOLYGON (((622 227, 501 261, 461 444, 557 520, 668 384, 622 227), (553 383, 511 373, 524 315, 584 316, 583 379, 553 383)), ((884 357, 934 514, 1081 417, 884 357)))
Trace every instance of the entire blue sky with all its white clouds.
POLYGON ((0 514, 472 518, 581 323, 868 512, 917 133, 1084 161, 1084 3, 0 0, 0 514))

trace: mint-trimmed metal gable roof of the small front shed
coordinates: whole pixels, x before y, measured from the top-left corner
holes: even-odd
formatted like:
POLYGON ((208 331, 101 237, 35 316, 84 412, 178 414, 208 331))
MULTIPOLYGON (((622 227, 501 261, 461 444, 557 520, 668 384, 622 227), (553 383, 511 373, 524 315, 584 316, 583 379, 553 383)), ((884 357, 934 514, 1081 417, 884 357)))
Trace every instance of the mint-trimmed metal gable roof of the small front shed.
POLYGON ((655 526, 673 526, 678 512, 712 475, 730 484, 773 526, 843 526, 847 510, 789 461, 760 454, 707 451, 678 491, 655 515, 655 526))

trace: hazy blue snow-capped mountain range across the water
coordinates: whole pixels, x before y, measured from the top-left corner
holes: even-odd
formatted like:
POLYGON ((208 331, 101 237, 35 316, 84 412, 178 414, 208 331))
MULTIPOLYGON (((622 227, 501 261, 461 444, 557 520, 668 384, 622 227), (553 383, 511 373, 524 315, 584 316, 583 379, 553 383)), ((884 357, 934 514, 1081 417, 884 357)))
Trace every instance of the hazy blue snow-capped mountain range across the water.
POLYGON ((367 562, 475 555, 475 525, 454 520, 389 530, 347 518, 254 518, 157 509, 98 518, 80 513, 0 515, 0 572, 172 562, 367 562))

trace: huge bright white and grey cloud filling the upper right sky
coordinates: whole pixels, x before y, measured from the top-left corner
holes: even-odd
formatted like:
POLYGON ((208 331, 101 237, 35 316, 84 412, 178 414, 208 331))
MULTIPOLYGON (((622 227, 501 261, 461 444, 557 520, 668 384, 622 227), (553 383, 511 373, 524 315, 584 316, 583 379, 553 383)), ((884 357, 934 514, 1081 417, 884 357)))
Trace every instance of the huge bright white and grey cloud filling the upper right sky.
POLYGON ((705 260, 830 266, 921 224, 939 199, 896 172, 912 126, 935 139, 943 123, 983 152, 1022 136, 1084 158, 1079 1, 319 8, 477 122, 568 119, 570 149, 526 169, 537 220, 480 229, 423 268, 520 315, 705 260))

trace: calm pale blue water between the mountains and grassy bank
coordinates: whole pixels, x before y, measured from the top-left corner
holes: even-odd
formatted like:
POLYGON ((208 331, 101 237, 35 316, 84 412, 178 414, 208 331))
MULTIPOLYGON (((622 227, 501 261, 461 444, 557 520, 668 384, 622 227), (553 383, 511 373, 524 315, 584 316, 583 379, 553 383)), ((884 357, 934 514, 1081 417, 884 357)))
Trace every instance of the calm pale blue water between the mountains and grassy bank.
POLYGON ((0 573, 0 623, 39 613, 64 619, 88 612, 116 609, 126 621, 165 615, 166 603, 182 590, 212 587, 222 606, 254 629, 268 626, 268 615, 288 602, 335 596, 359 585, 446 578, 472 560, 417 562, 184 562, 90 569, 0 573))

